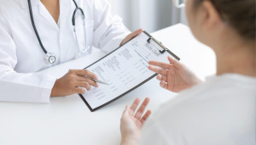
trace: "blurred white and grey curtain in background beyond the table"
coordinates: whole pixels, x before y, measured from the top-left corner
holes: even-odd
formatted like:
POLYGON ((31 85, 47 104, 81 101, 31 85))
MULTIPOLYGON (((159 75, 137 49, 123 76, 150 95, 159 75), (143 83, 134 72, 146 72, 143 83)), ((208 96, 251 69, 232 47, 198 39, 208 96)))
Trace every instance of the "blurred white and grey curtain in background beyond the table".
POLYGON ((113 14, 123 18, 131 31, 143 28, 154 32, 177 23, 187 25, 184 8, 175 8, 172 0, 108 0, 113 14))

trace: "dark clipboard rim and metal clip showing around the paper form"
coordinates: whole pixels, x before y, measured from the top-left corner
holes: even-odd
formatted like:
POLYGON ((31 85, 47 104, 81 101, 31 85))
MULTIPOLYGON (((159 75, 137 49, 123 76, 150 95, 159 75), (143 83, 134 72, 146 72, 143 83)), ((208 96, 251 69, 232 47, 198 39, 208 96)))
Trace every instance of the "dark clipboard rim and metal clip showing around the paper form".
MULTIPOLYGON (((147 39, 148 44, 153 45, 153 46, 154 46, 154 44, 160 46, 161 49, 160 49, 160 48, 157 48, 160 54, 168 53, 168 54, 172 55, 172 57, 173 57, 174 59, 180 60, 180 58, 178 58, 176 54, 172 53, 172 51, 170 51, 167 47, 165 47, 161 42, 157 41, 153 36, 150 36, 150 35, 148 34, 148 32, 143 31, 143 33, 144 33, 146 36, 148 36, 148 39, 147 39), (153 44, 153 43, 154 43, 154 44, 153 44)), ((136 36, 136 37, 137 37, 137 36, 136 36)), ((129 42, 131 42, 133 39, 136 39, 136 37, 132 38, 129 42)), ((116 48, 115 50, 113 50, 113 52, 108 53, 106 56, 104 56, 102 59, 97 60, 95 63, 90 64, 89 66, 87 66, 86 68, 84 68, 84 70, 88 70, 92 65, 95 65, 95 64, 97 64, 98 62, 100 62, 100 61, 102 61, 102 60, 104 60, 104 59, 107 59, 108 56, 112 55, 113 53, 116 53, 120 48, 125 47, 125 45, 126 45, 127 43, 129 43, 129 42, 126 42, 126 43, 125 43, 124 45, 122 45, 121 47, 116 48)), ((154 46, 154 47, 155 47, 155 46, 154 46)), ((103 103, 102 105, 99 105, 99 106, 96 107, 96 108, 92 108, 91 105, 90 105, 90 103, 84 98, 84 96, 83 96, 82 94, 79 94, 79 96, 80 96, 80 98, 84 101, 84 103, 87 105, 87 107, 90 109, 90 111, 91 111, 91 112, 94 112, 94 111, 96 111, 97 109, 101 109, 102 107, 108 105, 109 103, 113 103, 113 101, 115 101, 115 100, 117 100, 117 99, 119 99, 119 98, 125 96, 127 93, 129 93, 129 92, 135 90, 137 87, 142 86, 144 83, 146 83, 147 81, 151 80, 151 79, 154 78, 156 75, 157 75, 157 74, 150 75, 147 79, 141 81, 141 82, 140 82, 139 84, 137 84, 136 86, 132 86, 131 89, 129 89, 129 90, 125 91, 125 92, 120 93, 119 96, 114 97, 113 99, 109 100, 109 101, 106 102, 106 103, 103 103)), ((88 93, 88 92, 85 92, 85 94, 86 94, 86 93, 88 93)))

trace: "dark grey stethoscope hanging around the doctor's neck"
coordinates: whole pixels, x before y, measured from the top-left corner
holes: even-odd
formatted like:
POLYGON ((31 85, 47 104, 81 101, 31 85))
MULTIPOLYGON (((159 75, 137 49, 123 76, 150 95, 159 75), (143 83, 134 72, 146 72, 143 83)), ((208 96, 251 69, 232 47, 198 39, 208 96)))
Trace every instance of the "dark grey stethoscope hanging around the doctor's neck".
MULTIPOLYGON (((38 35, 38 30, 37 30, 37 27, 35 25, 35 22, 34 22, 34 19, 33 19, 33 13, 32 13, 32 5, 31 5, 31 0, 27 0, 27 3, 28 3, 28 7, 29 7, 29 13, 30 13, 30 17, 31 17, 31 21, 32 21, 32 26, 33 26, 33 29, 36 33, 36 36, 38 38, 38 42, 40 44, 40 47, 42 48, 42 50, 44 51, 45 55, 44 55, 44 61, 46 63, 49 63, 49 64, 55 64, 55 61, 56 61, 56 57, 55 57, 55 54, 54 53, 49 53, 47 52, 47 50, 44 48, 44 45, 41 41, 41 38, 40 36, 38 35)), ((78 56, 81 56, 82 54, 86 53, 90 47, 86 47, 86 31, 85 31, 85 17, 84 17, 84 11, 82 8, 79 8, 78 4, 75 2, 75 0, 73 0, 73 3, 75 4, 76 8, 75 10, 73 11, 73 17, 72 17, 72 25, 73 25, 73 35, 76 39, 76 42, 77 42, 77 47, 79 47, 79 53, 78 53, 78 56), (76 14, 77 12, 80 11, 81 13, 81 17, 82 17, 82 20, 83 20, 83 25, 84 25, 84 42, 85 42, 85 47, 82 49, 81 51, 81 48, 79 46, 79 41, 78 41, 78 36, 77 36, 77 32, 76 32, 76 14)))

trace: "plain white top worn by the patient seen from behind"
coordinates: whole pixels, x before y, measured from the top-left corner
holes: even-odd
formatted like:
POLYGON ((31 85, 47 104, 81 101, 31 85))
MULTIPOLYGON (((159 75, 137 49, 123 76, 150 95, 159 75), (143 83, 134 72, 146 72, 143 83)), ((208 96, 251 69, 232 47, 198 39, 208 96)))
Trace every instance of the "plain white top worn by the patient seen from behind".
POLYGON ((162 105, 142 131, 142 145, 255 144, 256 78, 227 74, 162 105))

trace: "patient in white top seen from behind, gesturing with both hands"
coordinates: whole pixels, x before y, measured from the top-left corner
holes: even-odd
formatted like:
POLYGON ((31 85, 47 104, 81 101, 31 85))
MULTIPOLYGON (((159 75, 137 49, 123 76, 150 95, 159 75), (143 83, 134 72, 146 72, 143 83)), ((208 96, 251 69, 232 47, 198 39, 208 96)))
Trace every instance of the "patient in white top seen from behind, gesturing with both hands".
POLYGON ((121 144, 255 144, 255 0, 187 0, 186 14, 194 36, 216 53, 217 74, 202 82, 170 57, 149 62, 160 86, 183 92, 149 120, 149 98, 137 112, 138 98, 126 106, 121 144))

